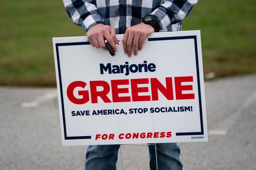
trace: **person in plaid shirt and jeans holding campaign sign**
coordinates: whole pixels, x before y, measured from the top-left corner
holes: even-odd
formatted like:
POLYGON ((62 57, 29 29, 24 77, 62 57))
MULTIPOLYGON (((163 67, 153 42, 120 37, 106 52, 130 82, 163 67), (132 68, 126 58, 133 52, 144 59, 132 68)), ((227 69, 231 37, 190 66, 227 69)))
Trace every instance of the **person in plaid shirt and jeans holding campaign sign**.
MULTIPOLYGON (((144 40, 154 32, 181 31, 181 22, 198 0, 63 0, 72 22, 82 26, 93 47, 115 52, 116 34, 124 34, 124 53, 129 57, 142 50, 144 40)), ((119 43, 118 43, 119 42, 119 43)), ((166 51, 167 52, 167 51, 166 51)), ((169 52, 169 51, 168 51, 169 52)), ((90 145, 86 170, 115 170, 120 145, 90 145)), ((148 145, 150 169, 156 169, 155 146, 148 145)), ((159 170, 182 169, 176 143, 156 144, 159 170)))

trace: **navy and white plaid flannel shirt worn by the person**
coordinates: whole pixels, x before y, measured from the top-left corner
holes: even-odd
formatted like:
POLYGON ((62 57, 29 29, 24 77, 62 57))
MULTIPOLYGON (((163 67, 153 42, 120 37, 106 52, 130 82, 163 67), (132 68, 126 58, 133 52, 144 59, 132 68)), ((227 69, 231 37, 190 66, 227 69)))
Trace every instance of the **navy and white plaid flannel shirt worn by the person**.
POLYGON ((152 14, 161 27, 160 32, 181 31, 181 21, 198 0, 63 0, 72 22, 88 31, 102 23, 122 34, 126 28, 141 23, 152 14))

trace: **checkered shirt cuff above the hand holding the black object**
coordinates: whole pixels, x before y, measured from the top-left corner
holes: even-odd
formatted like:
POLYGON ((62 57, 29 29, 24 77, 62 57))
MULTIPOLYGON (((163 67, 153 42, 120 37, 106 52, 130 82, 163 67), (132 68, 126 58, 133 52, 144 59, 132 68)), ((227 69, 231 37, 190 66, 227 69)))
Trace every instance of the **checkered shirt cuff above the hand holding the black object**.
POLYGON ((82 23, 82 27, 87 32, 92 26, 94 26, 96 24, 104 24, 105 25, 100 14, 98 14, 98 13, 88 15, 84 19, 84 21, 82 23))

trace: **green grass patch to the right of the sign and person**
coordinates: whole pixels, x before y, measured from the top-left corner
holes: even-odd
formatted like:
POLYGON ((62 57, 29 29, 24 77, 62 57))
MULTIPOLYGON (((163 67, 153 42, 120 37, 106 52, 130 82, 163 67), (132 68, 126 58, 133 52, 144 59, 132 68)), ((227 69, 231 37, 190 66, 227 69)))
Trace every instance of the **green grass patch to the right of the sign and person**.
POLYGON ((204 74, 256 72, 256 1, 199 1, 183 30, 201 30, 204 74))

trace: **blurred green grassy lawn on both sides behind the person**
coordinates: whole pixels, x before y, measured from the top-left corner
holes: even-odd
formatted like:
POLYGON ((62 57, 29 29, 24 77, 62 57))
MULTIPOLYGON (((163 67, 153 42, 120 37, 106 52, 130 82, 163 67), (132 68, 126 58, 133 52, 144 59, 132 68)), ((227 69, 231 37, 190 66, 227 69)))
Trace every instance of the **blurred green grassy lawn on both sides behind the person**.
MULTIPOLYGON (((201 0, 183 30, 201 30, 204 74, 256 72, 255 0, 201 0)), ((61 0, 9 0, 0 7, 0 85, 55 86, 52 37, 82 36, 61 0)))

